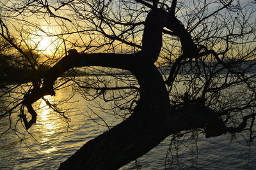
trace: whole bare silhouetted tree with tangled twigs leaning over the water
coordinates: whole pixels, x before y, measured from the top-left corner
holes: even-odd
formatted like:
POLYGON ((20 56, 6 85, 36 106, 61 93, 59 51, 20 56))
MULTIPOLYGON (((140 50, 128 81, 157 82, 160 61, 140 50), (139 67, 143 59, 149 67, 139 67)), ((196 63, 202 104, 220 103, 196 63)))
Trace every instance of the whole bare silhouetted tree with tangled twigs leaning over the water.
MULTIPOLYGON (((19 111, 20 122, 29 129, 36 123, 33 104, 54 96, 70 80, 84 99, 113 101, 113 111, 124 118, 88 141, 60 169, 118 169, 167 136, 190 131, 201 131, 206 138, 247 131, 250 141, 255 138, 253 1, 8 1, 1 6, 0 35, 38 73, 11 102, 12 108, 4 107, 1 118, 19 111), (59 32, 45 31, 29 22, 31 17, 59 32), (12 25, 13 20, 27 28, 12 25), (16 41, 10 29, 20 32, 16 41), (28 45, 24 36, 35 34, 33 29, 63 42, 62 48, 56 45, 54 57, 48 56, 47 71, 38 70, 22 50, 28 45), (74 67, 93 66, 130 71, 136 81, 124 76, 126 84, 109 87, 99 76, 91 81, 58 79, 74 67), (91 96, 83 89, 97 93, 91 96)), ((38 51, 37 46, 32 50, 38 51)), ((1 97, 6 94, 10 90, 1 97)))

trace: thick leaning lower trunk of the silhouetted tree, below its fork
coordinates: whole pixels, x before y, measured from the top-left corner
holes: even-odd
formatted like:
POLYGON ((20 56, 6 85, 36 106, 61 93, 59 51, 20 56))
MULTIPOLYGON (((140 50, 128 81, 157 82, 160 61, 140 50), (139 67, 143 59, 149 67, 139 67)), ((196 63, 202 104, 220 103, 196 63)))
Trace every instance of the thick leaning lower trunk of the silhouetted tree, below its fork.
POLYGON ((198 120, 190 120, 195 115, 189 114, 188 110, 172 111, 163 78, 154 64, 138 64, 135 70, 141 97, 131 117, 88 141, 61 163, 60 169, 118 169, 149 152, 170 134, 204 127, 211 119, 200 118, 207 115, 205 108, 192 109, 200 115, 198 120))

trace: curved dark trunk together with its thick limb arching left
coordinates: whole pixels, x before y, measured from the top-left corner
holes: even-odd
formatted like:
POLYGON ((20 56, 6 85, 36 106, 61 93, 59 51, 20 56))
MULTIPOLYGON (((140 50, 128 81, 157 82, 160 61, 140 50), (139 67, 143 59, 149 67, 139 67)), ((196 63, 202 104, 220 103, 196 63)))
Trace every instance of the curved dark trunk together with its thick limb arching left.
MULTIPOLYGON (((31 104, 54 92, 54 81, 61 73, 86 64, 128 69, 140 84, 140 100, 131 117, 88 141, 60 169, 118 169, 150 151, 170 134, 205 127, 216 120, 216 114, 204 106, 173 109, 161 74, 152 62, 142 59, 142 54, 70 53, 48 71, 40 89, 33 89, 26 96, 24 104, 36 117, 31 104)), ((26 119, 26 115, 22 118, 26 119)), ((33 119, 27 121, 28 127, 33 122, 33 119)))

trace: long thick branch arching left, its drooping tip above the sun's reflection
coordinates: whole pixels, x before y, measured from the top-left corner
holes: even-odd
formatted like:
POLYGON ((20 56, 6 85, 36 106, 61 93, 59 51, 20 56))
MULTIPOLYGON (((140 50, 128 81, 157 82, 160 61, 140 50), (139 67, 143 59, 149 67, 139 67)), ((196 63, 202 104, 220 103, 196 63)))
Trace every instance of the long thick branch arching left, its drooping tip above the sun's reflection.
POLYGON ((32 89, 31 92, 24 97, 23 104, 28 108, 28 112, 32 116, 31 120, 28 121, 26 115, 23 112, 20 113, 20 117, 24 121, 26 129, 29 129, 31 125, 36 123, 37 114, 33 109, 32 104, 41 97, 47 95, 54 96, 54 82, 59 76, 61 76, 61 74, 68 71, 68 69, 83 66, 102 66, 133 71, 133 69, 136 68, 136 64, 134 66, 134 63, 138 63, 138 67, 143 64, 138 53, 77 53, 76 50, 70 50, 68 52, 69 54, 67 56, 63 57, 60 62, 47 71, 42 87, 32 89))

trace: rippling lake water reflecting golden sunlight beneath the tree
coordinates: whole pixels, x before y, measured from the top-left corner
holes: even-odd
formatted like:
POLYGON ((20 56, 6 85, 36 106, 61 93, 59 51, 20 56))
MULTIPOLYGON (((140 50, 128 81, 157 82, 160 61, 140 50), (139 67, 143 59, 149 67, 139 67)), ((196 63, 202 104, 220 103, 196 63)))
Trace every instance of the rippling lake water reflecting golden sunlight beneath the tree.
MULTIPOLYGON (((49 101, 70 96, 72 89, 59 90, 56 97, 47 97, 49 101)), ((22 141, 16 134, 6 133, 0 143, 0 169, 57 169, 60 163, 76 152, 86 141, 108 130, 100 118, 91 115, 88 118, 90 102, 84 102, 79 94, 72 99, 74 103, 62 104, 63 108, 71 107, 68 115, 72 122, 68 125, 51 109, 45 108, 44 101, 38 101, 38 120, 29 132, 20 131, 22 141), (87 116, 86 116, 87 115, 87 116)), ((97 113, 97 108, 93 108, 97 113)), ((99 113, 109 124, 115 125, 122 119, 116 119, 111 114, 99 113)), ((90 114, 89 114, 90 115, 90 114)), ((8 120, 6 120, 6 124, 8 120)), ((1 132, 4 131, 1 124, 1 132)), ((166 153, 171 138, 166 138, 156 148, 138 160, 127 164, 121 169, 253 169, 256 167, 255 142, 244 143, 241 136, 237 141, 230 142, 230 134, 216 138, 205 139, 204 136, 191 140, 175 141, 172 155, 166 153), (187 146, 190 144, 189 146, 187 146)))

